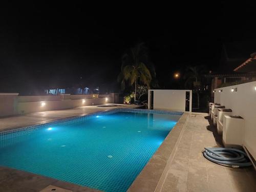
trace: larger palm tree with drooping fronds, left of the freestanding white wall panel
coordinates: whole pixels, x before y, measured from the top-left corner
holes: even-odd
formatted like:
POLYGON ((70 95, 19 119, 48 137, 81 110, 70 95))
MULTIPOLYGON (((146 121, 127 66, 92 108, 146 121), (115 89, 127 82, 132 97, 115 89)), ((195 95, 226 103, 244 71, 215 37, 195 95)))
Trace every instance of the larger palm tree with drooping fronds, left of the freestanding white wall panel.
POLYGON ((135 100, 138 83, 150 88, 152 81, 150 69, 154 71, 154 68, 148 62, 147 48, 143 43, 131 48, 122 57, 122 66, 121 72, 118 75, 118 81, 121 82, 122 89, 125 88, 125 82, 129 82, 131 86, 135 85, 135 100))

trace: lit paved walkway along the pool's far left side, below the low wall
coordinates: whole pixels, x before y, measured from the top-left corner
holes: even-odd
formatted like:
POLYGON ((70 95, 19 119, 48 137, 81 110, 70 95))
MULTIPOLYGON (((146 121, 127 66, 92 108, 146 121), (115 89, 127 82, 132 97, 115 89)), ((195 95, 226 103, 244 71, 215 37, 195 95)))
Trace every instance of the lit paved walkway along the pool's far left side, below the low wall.
MULTIPOLYGON (((112 103, 102 104, 110 105, 112 103)), ((116 108, 137 108, 138 105, 135 104, 115 104, 118 106, 80 106, 78 108, 66 109, 66 110, 54 110, 45 112, 36 112, 24 115, 17 115, 11 117, 0 118, 0 132, 10 129, 15 129, 18 127, 24 127, 29 125, 47 123, 49 121, 54 121, 57 119, 63 119, 74 116, 82 116, 95 112, 108 111, 116 108)))

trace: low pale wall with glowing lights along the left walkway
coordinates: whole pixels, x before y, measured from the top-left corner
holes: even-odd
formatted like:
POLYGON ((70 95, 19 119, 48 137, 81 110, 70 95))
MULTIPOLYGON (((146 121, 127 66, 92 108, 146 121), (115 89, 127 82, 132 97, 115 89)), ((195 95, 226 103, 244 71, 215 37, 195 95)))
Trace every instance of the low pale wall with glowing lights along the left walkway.
POLYGON ((0 93, 0 117, 98 105, 110 103, 112 100, 111 95, 98 94, 18 96, 18 93, 0 93), (42 102, 45 105, 41 105, 42 102))

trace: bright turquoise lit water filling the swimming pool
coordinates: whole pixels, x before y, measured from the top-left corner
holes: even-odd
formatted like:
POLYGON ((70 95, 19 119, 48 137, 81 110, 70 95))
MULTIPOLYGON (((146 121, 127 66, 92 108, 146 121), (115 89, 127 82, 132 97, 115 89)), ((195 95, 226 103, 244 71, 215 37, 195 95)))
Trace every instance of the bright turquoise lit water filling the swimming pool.
POLYGON ((126 191, 180 115, 117 112, 0 136, 0 165, 126 191))

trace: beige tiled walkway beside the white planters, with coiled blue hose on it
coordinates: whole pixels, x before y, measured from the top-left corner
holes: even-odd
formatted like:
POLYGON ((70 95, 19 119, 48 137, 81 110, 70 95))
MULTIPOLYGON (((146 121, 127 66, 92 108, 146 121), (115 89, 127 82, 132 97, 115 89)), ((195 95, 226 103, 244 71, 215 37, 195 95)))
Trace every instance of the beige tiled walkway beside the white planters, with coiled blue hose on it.
POLYGON ((202 155, 204 147, 222 146, 208 114, 189 115, 161 192, 170 191, 256 191, 256 172, 212 163, 202 155))

